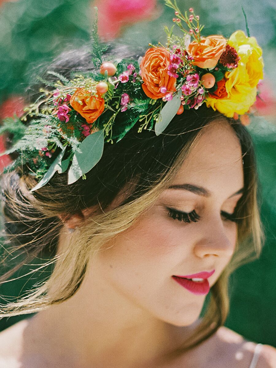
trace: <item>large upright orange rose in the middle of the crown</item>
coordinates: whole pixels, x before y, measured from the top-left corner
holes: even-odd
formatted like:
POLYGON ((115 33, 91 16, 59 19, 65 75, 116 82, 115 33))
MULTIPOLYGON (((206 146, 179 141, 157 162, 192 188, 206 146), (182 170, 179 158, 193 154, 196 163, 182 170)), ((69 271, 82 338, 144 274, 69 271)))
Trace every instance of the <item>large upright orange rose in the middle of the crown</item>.
POLYGON ((140 68, 143 80, 142 88, 145 94, 154 100, 162 98, 167 92, 176 91, 176 78, 168 74, 170 53, 164 47, 152 47, 143 57, 140 68), (166 92, 160 92, 165 87, 166 92))

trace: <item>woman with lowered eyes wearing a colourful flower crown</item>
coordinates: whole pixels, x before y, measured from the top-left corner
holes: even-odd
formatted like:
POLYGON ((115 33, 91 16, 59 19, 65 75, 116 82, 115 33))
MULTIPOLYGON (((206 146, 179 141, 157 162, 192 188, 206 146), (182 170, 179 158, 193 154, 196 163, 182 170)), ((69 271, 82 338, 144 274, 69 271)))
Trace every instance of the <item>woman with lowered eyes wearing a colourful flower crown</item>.
POLYGON ((82 75, 67 60, 78 75, 55 73, 62 82, 26 110, 4 178, 6 227, 14 252, 54 249, 55 267, 3 306, 38 314, 0 334, 1 366, 275 367, 273 347, 222 327, 230 272, 261 250, 252 142, 232 118, 251 106, 260 59, 252 47, 246 96, 227 95, 252 62, 239 63, 235 37, 208 39, 207 56, 174 39, 139 66, 109 55, 98 74, 73 52, 82 75))

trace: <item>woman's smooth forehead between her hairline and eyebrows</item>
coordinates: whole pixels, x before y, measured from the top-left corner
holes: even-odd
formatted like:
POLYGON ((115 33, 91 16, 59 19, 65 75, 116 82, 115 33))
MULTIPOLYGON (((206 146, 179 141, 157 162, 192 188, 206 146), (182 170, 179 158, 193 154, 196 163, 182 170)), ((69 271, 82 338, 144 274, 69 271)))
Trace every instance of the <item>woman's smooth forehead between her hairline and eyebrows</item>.
POLYGON ((240 141, 225 120, 203 128, 172 184, 209 187, 210 192, 226 187, 232 193, 243 187, 240 141))

